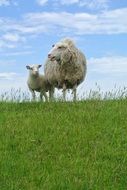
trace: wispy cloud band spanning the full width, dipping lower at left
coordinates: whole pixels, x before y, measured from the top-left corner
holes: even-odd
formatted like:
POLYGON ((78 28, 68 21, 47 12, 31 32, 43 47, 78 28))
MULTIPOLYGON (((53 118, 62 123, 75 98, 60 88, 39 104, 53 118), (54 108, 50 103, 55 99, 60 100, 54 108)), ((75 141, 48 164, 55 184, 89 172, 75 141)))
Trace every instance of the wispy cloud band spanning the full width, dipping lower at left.
POLYGON ((127 34, 127 8, 85 12, 27 13, 20 20, 0 18, 0 48, 15 48, 33 35, 127 34), (73 24, 72 24, 73 23, 73 24))

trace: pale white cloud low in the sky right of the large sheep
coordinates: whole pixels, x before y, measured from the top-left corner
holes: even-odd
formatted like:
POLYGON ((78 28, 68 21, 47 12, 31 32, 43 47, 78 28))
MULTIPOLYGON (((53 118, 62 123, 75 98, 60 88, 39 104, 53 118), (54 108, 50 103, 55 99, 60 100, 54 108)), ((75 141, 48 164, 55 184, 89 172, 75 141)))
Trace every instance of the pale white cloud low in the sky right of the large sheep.
POLYGON ((101 91, 115 91, 127 87, 126 73, 127 57, 91 57, 87 60, 86 79, 79 86, 78 92, 84 94, 91 89, 98 90, 97 86, 101 88, 101 91))

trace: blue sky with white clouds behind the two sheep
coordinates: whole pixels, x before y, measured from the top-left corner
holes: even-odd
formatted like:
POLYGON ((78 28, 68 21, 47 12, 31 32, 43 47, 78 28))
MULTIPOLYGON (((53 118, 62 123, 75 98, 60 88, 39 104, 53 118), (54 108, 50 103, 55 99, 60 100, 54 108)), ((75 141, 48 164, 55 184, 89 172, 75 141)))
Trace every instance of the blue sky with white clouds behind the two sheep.
POLYGON ((27 89, 26 65, 72 38, 87 59, 79 90, 127 87, 126 0, 0 0, 0 92, 27 89))

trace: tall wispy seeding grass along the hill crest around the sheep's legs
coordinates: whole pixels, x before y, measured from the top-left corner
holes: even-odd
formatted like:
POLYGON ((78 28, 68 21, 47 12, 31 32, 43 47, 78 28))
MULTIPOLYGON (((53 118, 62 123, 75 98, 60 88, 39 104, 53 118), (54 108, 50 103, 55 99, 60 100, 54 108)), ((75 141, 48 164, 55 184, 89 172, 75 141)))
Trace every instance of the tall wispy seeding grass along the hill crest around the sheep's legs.
MULTIPOLYGON (((39 101, 38 93, 36 94, 36 101, 39 101)), ((127 87, 114 86, 110 91, 103 92, 101 87, 96 83, 95 89, 90 89, 89 91, 84 92, 82 95, 78 94, 77 100, 118 100, 127 98, 127 87)), ((54 101, 62 101, 62 93, 55 94, 54 101)), ((72 100, 72 95, 67 96, 67 101, 72 100)), ((28 91, 22 91, 19 89, 12 88, 9 91, 4 91, 0 93, 0 101, 4 102, 30 102, 31 94, 28 91)))

